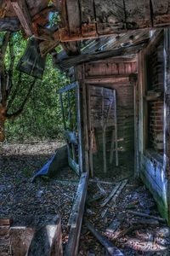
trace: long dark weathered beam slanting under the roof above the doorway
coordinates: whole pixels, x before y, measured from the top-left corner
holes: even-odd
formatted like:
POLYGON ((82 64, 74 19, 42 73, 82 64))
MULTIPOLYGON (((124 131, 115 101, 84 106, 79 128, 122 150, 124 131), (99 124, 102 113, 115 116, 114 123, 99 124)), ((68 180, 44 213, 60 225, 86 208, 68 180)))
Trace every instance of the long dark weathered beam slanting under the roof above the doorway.
MULTIPOLYGON (((145 42, 146 43, 146 42, 145 42)), ((61 70, 67 70, 70 67, 77 66, 88 61, 99 61, 110 57, 116 57, 121 55, 133 55, 136 54, 140 49, 143 49, 146 44, 137 44, 127 48, 120 47, 118 49, 111 49, 108 51, 98 52, 94 54, 87 55, 75 55, 67 58, 63 61, 56 61, 56 65, 61 68, 61 70)))

